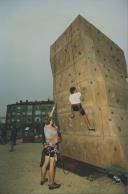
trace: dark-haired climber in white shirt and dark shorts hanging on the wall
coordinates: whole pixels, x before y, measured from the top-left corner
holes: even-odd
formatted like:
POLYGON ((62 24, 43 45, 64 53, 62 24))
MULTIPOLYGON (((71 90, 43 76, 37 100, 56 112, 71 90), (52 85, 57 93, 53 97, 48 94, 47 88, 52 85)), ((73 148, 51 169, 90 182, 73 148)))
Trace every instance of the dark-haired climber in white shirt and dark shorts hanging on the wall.
POLYGON ((70 116, 70 118, 73 119, 75 117, 74 111, 78 111, 81 116, 84 116, 88 129, 91 131, 95 131, 95 129, 90 125, 90 122, 89 122, 88 117, 85 113, 85 110, 83 109, 83 107, 81 105, 80 97, 81 97, 81 93, 77 92, 76 87, 74 87, 74 86, 71 87, 70 88, 70 95, 69 95, 69 101, 71 103, 71 116, 70 116))

